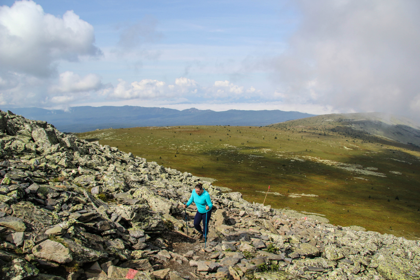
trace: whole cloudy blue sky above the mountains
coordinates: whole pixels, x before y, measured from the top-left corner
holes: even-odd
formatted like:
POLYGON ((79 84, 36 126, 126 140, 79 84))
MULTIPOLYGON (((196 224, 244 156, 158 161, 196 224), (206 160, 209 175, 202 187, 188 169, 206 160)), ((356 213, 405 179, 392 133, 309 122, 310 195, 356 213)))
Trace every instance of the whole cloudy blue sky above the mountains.
POLYGON ((419 118, 413 1, 2 1, 0 105, 419 118))

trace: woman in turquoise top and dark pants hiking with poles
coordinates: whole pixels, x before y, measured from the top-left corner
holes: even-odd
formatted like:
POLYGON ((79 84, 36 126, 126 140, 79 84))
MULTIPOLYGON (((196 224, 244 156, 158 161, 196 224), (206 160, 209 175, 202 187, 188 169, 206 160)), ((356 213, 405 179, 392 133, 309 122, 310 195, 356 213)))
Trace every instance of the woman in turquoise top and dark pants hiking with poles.
POLYGON ((207 239, 207 235, 209 232, 209 221, 211 216, 211 210, 213 204, 210 200, 210 194, 203 189, 203 185, 198 183, 194 190, 191 193, 191 197, 189 201, 184 204, 184 208, 189 207, 190 204, 195 202, 197 206, 197 213, 195 214, 194 218, 194 228, 199 232, 199 239, 203 237, 203 230, 205 234, 205 238, 207 239), (203 222, 203 230, 201 229, 200 222, 203 222))

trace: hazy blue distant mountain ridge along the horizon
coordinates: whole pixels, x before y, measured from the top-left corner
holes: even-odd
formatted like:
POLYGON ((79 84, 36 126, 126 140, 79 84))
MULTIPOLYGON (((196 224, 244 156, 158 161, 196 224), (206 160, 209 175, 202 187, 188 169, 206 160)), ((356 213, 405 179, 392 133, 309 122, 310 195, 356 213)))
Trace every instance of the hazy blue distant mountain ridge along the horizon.
POLYGON ((7 108, 1 110, 22 115, 32 120, 45 120, 63 132, 86 132, 97 128, 129 128, 136 126, 231 125, 266 126, 286 120, 315 115, 281 110, 176 110, 139 106, 78 106, 64 110, 46 110, 37 107, 7 108))

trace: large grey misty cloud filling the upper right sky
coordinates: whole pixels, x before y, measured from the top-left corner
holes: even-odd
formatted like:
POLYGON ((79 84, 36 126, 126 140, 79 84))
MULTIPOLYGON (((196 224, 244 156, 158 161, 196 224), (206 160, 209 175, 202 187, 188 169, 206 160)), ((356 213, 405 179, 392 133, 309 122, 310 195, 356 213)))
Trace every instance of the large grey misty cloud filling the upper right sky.
POLYGON ((273 70, 279 98, 420 118, 420 2, 297 2, 288 49, 256 64, 273 70), (281 92, 281 94, 279 94, 281 92))

